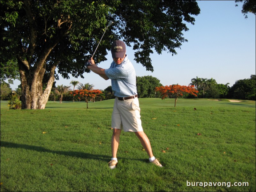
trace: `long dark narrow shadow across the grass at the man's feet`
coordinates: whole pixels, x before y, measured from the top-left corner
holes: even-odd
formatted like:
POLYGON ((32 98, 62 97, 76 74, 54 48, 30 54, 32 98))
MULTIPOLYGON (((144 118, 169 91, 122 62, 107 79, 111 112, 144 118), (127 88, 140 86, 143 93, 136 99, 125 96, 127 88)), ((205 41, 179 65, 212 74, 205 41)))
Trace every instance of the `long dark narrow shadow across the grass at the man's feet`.
MULTIPOLYGON (((6 147, 6 148, 20 148, 20 149, 33 150, 38 152, 55 153, 58 155, 65 155, 65 156, 71 156, 71 157, 77 157, 77 158, 83 158, 83 159, 97 159, 104 162, 109 161, 109 159, 111 159, 111 156, 107 156, 107 155, 84 153, 84 152, 77 152, 77 151, 54 151, 54 150, 46 149, 45 147, 41 147, 41 146, 17 144, 17 143, 11 143, 6 141, 1 141, 0 146, 6 147)), ((132 158, 124 158, 124 157, 120 157, 120 159, 139 160, 143 162, 146 161, 146 159, 132 159, 132 158)))

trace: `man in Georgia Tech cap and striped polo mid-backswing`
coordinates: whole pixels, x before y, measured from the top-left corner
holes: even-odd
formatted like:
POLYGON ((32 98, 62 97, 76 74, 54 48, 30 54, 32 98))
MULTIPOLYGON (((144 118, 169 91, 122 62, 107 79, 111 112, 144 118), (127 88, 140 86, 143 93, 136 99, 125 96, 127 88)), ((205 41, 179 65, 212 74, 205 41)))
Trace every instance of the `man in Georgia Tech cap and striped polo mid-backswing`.
POLYGON ((149 139, 141 126, 136 74, 132 63, 126 55, 124 42, 120 40, 114 41, 111 46, 111 54, 113 62, 110 64, 109 69, 98 67, 92 57, 85 64, 87 69, 100 75, 105 80, 111 79, 112 90, 116 96, 111 123, 113 128, 111 140, 112 159, 109 161, 109 168, 114 169, 117 166, 117 149, 122 130, 134 132, 147 151, 149 161, 162 167, 159 160, 155 159, 149 139))

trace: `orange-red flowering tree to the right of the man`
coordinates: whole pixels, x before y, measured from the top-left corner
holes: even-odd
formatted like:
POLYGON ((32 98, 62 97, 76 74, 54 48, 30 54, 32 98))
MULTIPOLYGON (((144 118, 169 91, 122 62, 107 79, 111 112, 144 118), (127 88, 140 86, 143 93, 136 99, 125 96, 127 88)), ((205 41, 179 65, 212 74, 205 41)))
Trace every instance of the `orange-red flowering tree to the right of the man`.
POLYGON ((184 94, 192 94, 197 96, 198 91, 194 88, 194 85, 185 86, 185 85, 166 85, 161 87, 156 87, 155 91, 160 92, 162 99, 175 98, 174 107, 176 107, 176 101, 180 96, 184 94))

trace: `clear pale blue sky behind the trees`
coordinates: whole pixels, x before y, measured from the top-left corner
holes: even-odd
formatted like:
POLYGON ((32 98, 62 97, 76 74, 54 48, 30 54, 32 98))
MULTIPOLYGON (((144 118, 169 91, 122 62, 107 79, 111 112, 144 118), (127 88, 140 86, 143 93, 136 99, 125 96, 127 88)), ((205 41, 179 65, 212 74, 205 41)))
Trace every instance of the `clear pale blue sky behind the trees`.
MULTIPOLYGON (((134 51, 127 47, 126 53, 133 63, 136 76, 151 75, 160 80, 162 85, 189 85, 192 78, 214 78, 218 84, 235 84, 239 79, 255 75, 255 15, 248 13, 245 19, 241 13, 242 3, 235 1, 197 1, 200 14, 195 17, 195 25, 186 24, 188 32, 177 55, 162 52, 151 55, 154 72, 146 71, 140 63, 134 61, 134 51)), ((111 53, 107 61, 98 66, 107 69, 112 62, 111 53)), ((60 78, 57 85, 70 85, 72 80, 82 84, 94 85, 94 89, 106 89, 110 80, 104 80, 93 72, 84 74, 84 79, 60 78)), ((20 81, 10 84, 15 90, 20 81)))

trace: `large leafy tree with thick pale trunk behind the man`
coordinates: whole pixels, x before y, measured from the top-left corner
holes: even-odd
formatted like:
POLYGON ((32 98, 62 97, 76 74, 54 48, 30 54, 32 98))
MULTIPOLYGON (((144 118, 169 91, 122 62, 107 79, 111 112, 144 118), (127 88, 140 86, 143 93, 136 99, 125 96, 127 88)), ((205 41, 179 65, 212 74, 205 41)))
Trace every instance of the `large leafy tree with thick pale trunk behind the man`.
POLYGON ((153 71, 153 49, 176 54, 187 41, 186 22, 194 25, 192 16, 199 13, 196 1, 1 1, 1 68, 17 61, 22 108, 43 109, 59 78, 55 70, 67 79, 89 72, 84 63, 109 20, 114 25, 94 55, 96 62, 106 60, 112 41, 124 39, 136 62, 153 71))

